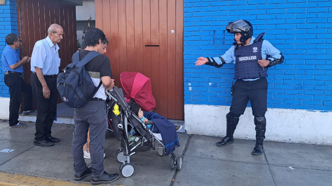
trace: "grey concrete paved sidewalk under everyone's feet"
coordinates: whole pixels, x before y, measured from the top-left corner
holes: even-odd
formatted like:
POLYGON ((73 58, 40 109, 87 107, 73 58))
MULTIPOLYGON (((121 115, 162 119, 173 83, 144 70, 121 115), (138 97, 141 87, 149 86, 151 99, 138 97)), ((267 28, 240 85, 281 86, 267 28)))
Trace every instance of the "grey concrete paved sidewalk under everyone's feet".
MULTIPOLYGON (((34 146, 34 122, 9 129, 0 120, 0 185, 90 185, 91 177, 73 180, 71 154, 73 125, 54 124, 52 135, 61 139, 53 147, 34 146), (11 152, 10 152, 11 151, 11 152)), ((182 170, 170 170, 170 156, 158 151, 131 156, 134 174, 109 185, 332 185, 332 147, 266 141, 265 153, 251 155, 254 141, 236 139, 217 147, 220 137, 179 133, 182 170)), ((105 170, 118 173, 119 142, 107 132, 105 170)), ((90 160, 86 160, 90 163, 90 160)))

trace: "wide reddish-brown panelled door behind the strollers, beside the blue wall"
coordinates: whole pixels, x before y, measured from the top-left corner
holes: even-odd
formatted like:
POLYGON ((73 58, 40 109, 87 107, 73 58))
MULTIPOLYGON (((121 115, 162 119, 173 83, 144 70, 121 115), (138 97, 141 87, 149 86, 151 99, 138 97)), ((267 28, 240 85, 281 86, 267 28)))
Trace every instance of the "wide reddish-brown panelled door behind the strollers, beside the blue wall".
POLYGON ((152 80, 156 112, 183 120, 183 0, 95 0, 96 27, 111 45, 115 85, 121 72, 152 80))

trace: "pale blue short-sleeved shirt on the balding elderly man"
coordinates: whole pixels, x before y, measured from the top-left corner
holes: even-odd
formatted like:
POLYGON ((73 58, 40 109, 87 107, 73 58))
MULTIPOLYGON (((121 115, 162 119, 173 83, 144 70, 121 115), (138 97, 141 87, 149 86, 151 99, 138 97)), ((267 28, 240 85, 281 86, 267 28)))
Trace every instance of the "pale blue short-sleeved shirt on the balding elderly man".
POLYGON ((41 68, 44 75, 55 75, 59 73, 60 61, 59 46, 53 45, 47 36, 34 44, 31 55, 31 71, 36 72, 34 67, 41 68))

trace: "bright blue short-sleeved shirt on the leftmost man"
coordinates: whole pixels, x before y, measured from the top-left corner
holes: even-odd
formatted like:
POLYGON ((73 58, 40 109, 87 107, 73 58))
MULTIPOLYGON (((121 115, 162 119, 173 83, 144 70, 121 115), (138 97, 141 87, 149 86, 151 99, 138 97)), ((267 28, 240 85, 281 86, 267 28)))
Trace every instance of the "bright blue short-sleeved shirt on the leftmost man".
POLYGON ((15 65, 16 63, 20 62, 19 51, 14 50, 11 46, 7 45, 2 52, 1 59, 2 59, 2 69, 5 72, 12 71, 12 72, 23 73, 22 65, 14 70, 10 68, 11 65, 15 65))

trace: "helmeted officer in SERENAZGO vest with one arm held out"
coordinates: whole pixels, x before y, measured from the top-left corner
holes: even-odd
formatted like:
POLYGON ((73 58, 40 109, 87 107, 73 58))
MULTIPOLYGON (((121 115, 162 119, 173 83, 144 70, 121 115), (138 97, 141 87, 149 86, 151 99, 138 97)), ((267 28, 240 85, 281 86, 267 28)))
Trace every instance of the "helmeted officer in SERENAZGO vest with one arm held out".
POLYGON ((279 50, 263 39, 265 33, 260 33, 257 38, 252 37, 253 28, 247 20, 230 22, 226 30, 234 34, 233 46, 220 57, 199 57, 195 62, 196 66, 205 64, 217 68, 232 61, 235 63, 236 81, 232 86, 234 90, 230 112, 226 115, 226 136, 217 142, 217 146, 234 142, 233 134, 239 117, 246 110, 250 100, 256 126, 256 144, 251 154, 261 155, 264 152, 263 140, 266 130, 267 71, 269 67, 282 64, 284 57, 279 50))

